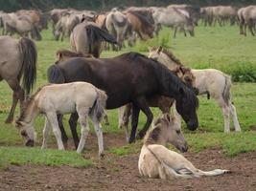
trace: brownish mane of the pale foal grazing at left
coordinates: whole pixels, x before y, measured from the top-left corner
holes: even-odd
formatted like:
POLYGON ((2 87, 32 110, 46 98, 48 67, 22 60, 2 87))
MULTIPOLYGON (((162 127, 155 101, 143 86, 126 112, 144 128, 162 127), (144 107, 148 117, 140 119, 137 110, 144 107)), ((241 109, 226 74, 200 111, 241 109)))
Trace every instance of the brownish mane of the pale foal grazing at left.
POLYGON ((32 95, 32 96, 27 96, 26 99, 24 100, 22 107, 21 107, 21 111, 20 111, 20 116, 18 117, 18 119, 16 120, 17 122, 23 121, 25 119, 25 117, 27 116, 27 109, 29 108, 29 106, 31 105, 31 103, 35 100, 35 96, 38 95, 38 93, 45 87, 45 86, 50 86, 52 84, 45 84, 41 87, 39 87, 36 92, 32 95))

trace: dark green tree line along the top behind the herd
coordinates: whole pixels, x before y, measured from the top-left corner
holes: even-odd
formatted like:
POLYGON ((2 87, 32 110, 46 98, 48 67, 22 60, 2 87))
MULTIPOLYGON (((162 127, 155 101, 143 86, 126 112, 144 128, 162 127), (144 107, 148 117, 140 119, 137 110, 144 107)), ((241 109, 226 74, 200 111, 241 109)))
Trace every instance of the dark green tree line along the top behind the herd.
POLYGON ((234 5, 242 7, 256 4, 256 0, 0 0, 0 11, 42 10, 74 8, 78 10, 105 11, 113 7, 167 6, 192 4, 198 6, 234 5))

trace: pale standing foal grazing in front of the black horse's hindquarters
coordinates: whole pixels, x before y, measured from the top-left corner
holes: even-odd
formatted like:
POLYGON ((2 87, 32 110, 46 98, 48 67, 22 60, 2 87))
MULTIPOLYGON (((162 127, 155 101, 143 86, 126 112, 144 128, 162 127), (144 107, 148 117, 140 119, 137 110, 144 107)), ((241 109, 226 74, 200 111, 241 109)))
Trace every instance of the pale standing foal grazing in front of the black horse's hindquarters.
POLYGON ((35 117, 44 114, 46 117, 43 130, 42 149, 46 148, 49 130, 52 126, 58 141, 58 149, 63 150, 63 142, 58 127, 57 114, 71 114, 77 112, 81 124, 81 139, 78 153, 81 153, 89 132, 87 117, 92 119, 99 144, 99 156, 104 155, 103 131, 100 119, 105 113, 105 92, 86 82, 46 85, 31 96, 25 103, 20 117, 16 120, 16 127, 26 139, 26 146, 34 146, 35 117))

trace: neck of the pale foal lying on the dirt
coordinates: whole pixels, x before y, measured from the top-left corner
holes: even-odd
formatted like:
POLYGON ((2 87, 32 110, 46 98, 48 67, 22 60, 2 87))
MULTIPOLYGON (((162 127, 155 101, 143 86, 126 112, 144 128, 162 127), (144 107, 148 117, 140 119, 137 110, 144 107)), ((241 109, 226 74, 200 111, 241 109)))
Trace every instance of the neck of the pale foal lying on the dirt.
POLYGON ((165 146, 167 138, 164 136, 164 131, 160 127, 153 128, 144 140, 145 145, 160 144, 165 146))

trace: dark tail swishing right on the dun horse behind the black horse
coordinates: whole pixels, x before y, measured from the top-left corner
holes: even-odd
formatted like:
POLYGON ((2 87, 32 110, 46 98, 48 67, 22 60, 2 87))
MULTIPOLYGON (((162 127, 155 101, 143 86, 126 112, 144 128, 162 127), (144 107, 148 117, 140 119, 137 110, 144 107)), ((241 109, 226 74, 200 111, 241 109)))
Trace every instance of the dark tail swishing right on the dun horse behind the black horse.
POLYGON ((117 41, 114 36, 105 32, 97 26, 87 25, 86 33, 89 39, 89 47, 92 47, 97 42, 106 41, 112 44, 117 44, 117 41))

